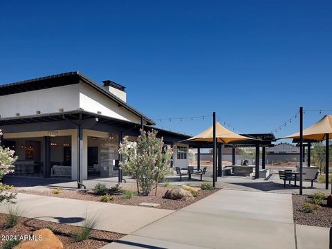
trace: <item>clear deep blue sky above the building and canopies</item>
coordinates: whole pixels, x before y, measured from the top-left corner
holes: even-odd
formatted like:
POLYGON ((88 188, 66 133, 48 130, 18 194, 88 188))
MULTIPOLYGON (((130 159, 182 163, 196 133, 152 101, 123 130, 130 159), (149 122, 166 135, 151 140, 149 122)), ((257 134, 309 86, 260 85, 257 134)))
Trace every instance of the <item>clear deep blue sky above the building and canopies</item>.
MULTIPOLYGON (((331 0, 1 1, 0 11, 0 84, 81 71, 127 86, 151 118, 216 111, 245 133, 299 106, 332 109, 331 0)), ((321 117, 306 113, 304 125, 321 117)), ((211 122, 158 124, 199 133, 211 122)))

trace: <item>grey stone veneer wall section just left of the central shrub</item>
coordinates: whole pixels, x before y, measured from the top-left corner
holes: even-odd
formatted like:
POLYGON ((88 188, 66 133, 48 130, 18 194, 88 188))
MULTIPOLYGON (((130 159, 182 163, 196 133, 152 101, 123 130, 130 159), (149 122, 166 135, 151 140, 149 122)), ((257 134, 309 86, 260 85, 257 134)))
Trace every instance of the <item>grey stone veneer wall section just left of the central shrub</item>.
POLYGON ((118 135, 113 140, 100 138, 100 176, 118 176, 117 170, 113 172, 113 160, 119 158, 118 149, 118 135))

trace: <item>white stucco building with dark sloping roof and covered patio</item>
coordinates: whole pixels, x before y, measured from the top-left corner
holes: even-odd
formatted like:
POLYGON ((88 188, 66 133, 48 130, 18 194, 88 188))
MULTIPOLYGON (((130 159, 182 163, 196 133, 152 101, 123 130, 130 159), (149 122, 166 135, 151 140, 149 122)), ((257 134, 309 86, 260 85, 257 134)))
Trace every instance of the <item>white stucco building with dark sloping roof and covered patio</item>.
POLYGON ((0 86, 0 142, 15 149, 15 174, 21 176, 117 176, 120 140, 135 141, 142 120, 145 130, 156 129, 174 147, 174 167, 187 167, 188 145, 177 142, 190 136, 154 127, 127 103, 120 84, 100 85, 70 72, 0 86))

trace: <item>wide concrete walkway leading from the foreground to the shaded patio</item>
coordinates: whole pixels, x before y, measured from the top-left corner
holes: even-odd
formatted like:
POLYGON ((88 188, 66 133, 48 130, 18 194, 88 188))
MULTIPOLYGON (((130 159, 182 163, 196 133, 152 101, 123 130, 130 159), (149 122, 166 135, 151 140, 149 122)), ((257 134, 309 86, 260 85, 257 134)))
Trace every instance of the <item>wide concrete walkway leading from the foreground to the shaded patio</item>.
POLYGON ((296 228, 297 245, 290 194, 220 190, 104 249, 329 248, 328 228, 296 228))

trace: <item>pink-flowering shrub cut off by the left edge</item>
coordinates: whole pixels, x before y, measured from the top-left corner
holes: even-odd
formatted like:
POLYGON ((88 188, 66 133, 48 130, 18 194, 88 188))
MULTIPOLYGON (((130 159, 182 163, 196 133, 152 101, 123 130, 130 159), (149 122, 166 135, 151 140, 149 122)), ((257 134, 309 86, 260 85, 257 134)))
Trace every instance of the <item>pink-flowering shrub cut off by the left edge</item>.
MULTIPOLYGON (((3 133, 0 129, 0 136, 2 135, 3 133)), ((17 160, 17 156, 14 156, 14 154, 15 151, 0 146, 0 181, 6 174, 14 172, 14 163, 17 160)), ((0 203, 5 200, 11 202, 11 200, 15 198, 16 194, 13 193, 2 194, 3 191, 8 190, 8 188, 8 185, 0 183, 0 203)))

